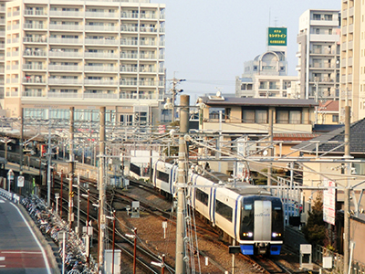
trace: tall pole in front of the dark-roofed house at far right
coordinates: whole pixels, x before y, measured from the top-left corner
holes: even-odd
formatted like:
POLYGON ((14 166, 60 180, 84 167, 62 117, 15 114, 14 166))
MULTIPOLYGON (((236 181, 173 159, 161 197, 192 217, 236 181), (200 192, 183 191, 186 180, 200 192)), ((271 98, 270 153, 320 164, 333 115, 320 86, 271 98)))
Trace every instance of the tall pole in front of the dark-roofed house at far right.
MULTIPOLYGON (((349 160, 350 156, 350 147, 349 147, 349 140, 350 140, 350 107, 345 107, 345 160, 349 160)), ((351 174, 351 163, 347 163, 347 185, 345 188, 345 201, 344 201, 344 231, 343 231, 343 273, 349 274, 349 213, 350 213, 350 204, 349 204, 349 196, 350 196, 350 184, 349 184, 349 176, 351 174)))

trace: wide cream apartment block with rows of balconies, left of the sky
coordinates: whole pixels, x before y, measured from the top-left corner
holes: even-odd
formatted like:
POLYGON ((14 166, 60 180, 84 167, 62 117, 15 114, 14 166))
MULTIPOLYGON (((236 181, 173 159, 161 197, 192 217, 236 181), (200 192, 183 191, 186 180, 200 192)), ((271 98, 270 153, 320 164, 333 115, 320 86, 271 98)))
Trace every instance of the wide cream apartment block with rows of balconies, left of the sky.
POLYGON ((116 121, 153 123, 165 85, 164 11, 150 0, 6 3, 6 115, 68 118, 74 106, 92 119, 105 106, 116 121))

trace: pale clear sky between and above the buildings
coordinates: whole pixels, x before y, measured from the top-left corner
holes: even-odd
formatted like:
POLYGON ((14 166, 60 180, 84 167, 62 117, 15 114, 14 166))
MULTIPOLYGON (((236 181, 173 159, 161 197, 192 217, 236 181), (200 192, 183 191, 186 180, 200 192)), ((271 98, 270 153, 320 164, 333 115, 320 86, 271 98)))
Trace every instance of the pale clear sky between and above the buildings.
MULTIPOLYGON (((151 0, 166 5, 168 83, 193 102, 205 93, 235 93, 244 62, 266 51, 267 26, 287 26, 288 75, 297 75, 298 21, 308 9, 339 10, 341 0, 151 0), (170 80, 170 81, 169 81, 170 80)), ((172 87, 167 85, 168 89, 172 87)), ((169 93, 168 93, 169 94, 169 93)))

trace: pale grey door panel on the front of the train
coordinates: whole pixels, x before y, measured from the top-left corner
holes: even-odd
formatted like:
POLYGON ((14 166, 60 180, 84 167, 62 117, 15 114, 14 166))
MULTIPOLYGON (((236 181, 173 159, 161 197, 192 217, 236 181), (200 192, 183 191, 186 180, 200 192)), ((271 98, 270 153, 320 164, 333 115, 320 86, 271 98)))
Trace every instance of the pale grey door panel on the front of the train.
POLYGON ((271 201, 255 201, 254 240, 271 240, 271 201))

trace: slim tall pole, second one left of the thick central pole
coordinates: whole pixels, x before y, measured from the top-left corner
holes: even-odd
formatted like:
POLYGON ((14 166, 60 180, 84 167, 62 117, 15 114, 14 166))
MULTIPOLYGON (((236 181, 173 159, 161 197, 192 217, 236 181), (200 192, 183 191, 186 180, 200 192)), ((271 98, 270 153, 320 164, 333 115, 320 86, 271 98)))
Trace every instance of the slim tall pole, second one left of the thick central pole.
POLYGON ((69 228, 72 228, 72 217, 73 217, 73 192, 72 184, 74 181, 74 107, 69 108, 69 182, 68 182, 68 223, 69 228))

